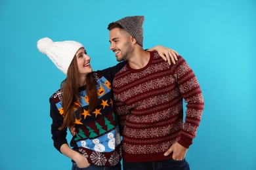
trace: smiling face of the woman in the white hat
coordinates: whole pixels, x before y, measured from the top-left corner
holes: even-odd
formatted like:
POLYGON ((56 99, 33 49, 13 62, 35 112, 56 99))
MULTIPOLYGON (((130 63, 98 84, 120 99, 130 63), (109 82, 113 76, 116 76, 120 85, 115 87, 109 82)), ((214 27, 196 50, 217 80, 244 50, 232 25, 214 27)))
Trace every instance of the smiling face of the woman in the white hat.
POLYGON ((91 73, 93 71, 90 64, 91 58, 87 56, 85 48, 80 48, 76 52, 75 56, 77 59, 78 73, 80 75, 87 75, 88 73, 91 73))

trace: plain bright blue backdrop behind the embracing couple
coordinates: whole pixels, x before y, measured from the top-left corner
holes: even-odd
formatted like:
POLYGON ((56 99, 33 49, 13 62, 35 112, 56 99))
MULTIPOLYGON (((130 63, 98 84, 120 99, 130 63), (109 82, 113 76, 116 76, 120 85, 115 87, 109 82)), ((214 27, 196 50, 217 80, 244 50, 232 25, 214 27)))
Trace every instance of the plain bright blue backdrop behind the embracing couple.
POLYGON ((70 169, 51 139, 49 97, 64 75, 36 42, 83 43, 93 69, 115 65, 107 25, 144 15, 144 48, 183 56, 205 99, 192 170, 256 169, 256 1, 0 0, 0 169, 70 169))

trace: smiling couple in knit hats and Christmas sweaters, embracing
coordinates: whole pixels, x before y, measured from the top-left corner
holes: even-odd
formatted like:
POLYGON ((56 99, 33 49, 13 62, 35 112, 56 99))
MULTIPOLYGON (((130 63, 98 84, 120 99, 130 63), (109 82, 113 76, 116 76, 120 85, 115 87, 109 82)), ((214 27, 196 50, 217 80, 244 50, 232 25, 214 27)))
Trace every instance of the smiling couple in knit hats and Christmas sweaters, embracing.
POLYGON ((37 42, 67 75, 49 101, 54 146, 72 169, 121 169, 122 157, 123 169, 189 169, 184 157, 201 120, 202 92, 181 56, 175 65, 163 61, 174 60, 175 51, 143 50, 143 22, 144 16, 129 16, 108 25, 110 50, 123 62, 102 71, 93 71, 79 42, 37 42))

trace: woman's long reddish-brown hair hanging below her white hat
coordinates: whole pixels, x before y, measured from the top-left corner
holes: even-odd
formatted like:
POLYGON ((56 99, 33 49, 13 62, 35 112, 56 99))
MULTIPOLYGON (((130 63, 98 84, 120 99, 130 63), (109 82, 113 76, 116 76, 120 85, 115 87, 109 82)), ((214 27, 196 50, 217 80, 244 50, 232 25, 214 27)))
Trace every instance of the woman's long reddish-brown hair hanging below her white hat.
MULTIPOLYGON (((62 108, 63 113, 63 124, 58 129, 62 130, 66 127, 75 125, 75 108, 80 110, 81 116, 81 105, 80 105, 80 96, 79 96, 79 80, 77 78, 78 68, 77 68, 77 59, 74 56, 70 67, 68 67, 68 73, 65 80, 60 84, 60 87, 63 89, 62 93, 62 108)), ((96 90, 96 80, 93 78, 93 73, 89 73, 86 76, 86 93, 89 99, 89 110, 95 109, 99 105, 98 95, 96 90)))

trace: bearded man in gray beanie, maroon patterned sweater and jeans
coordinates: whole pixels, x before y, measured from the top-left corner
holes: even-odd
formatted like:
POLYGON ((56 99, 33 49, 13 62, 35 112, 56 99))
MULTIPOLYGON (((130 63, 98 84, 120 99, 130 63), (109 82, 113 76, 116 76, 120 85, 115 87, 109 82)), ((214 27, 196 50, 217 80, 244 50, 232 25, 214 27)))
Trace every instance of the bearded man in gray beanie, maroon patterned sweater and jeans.
POLYGON ((189 169, 185 156, 202 117, 202 91, 181 56, 168 65, 143 50, 143 22, 144 16, 128 16, 108 25, 110 50, 128 61, 113 82, 123 169, 189 169))

